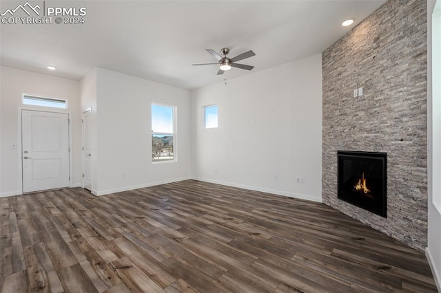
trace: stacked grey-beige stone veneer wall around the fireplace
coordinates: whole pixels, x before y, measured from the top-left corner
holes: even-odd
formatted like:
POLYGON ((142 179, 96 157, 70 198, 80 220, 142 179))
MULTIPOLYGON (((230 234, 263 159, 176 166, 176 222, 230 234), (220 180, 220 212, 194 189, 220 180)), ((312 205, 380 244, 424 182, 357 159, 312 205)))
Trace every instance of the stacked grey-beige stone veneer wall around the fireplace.
POLYGON ((322 53, 323 202, 427 246, 427 6, 389 0, 322 53), (353 89, 364 95, 353 98, 353 89), (387 219, 337 198, 337 151, 387 153, 387 219))

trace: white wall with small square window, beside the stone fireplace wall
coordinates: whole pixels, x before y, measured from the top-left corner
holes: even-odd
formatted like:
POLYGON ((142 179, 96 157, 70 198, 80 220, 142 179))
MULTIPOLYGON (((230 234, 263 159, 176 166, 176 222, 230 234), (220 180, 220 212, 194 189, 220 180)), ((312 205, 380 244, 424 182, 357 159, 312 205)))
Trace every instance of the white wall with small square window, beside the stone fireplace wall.
POLYGON ((311 56, 192 91, 193 177, 321 202, 321 61, 311 56), (204 106, 213 104, 218 128, 204 129, 204 106))

